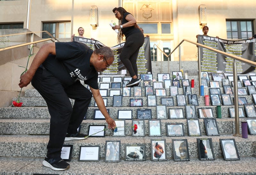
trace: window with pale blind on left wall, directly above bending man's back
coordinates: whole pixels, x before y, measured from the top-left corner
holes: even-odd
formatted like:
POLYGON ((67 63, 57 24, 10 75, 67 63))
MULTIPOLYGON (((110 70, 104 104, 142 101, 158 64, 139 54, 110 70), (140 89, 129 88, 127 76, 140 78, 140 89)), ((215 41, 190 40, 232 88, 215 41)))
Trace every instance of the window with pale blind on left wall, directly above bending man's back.
MULTIPOLYGON (((70 22, 53 22, 43 23, 43 31, 48 31, 56 38, 70 38, 71 37, 71 23, 70 22)), ((43 33, 42 38, 51 38, 47 33, 43 33)))

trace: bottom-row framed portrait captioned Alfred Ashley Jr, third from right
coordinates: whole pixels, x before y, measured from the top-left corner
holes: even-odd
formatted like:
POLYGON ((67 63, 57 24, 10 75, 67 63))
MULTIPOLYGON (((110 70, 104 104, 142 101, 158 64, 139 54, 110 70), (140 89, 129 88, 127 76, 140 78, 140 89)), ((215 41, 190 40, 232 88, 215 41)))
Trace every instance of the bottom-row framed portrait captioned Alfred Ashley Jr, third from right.
POLYGON ((188 140, 172 139, 174 161, 189 161, 188 140))

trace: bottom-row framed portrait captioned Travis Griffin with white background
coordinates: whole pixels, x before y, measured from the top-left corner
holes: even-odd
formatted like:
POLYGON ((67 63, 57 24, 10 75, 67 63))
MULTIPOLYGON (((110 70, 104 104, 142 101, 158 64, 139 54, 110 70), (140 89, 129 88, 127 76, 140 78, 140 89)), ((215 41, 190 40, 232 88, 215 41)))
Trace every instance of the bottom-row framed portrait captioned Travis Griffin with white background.
POLYGON ((151 161, 166 161, 165 139, 150 139, 151 142, 151 161))

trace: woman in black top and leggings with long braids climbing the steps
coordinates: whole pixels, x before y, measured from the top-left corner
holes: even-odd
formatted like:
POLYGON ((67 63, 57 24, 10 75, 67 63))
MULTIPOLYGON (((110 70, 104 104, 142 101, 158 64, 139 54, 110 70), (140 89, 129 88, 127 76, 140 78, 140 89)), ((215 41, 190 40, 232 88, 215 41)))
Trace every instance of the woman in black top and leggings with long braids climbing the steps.
POLYGON ((134 86, 141 81, 141 79, 138 77, 138 68, 136 62, 140 47, 144 43, 144 35, 140 31, 136 19, 123 7, 115 7, 113 12, 120 24, 120 26, 116 25, 112 27, 113 30, 119 29, 119 33, 117 35, 118 42, 120 43, 124 36, 126 40, 119 55, 120 60, 123 62, 125 68, 132 77, 131 81, 126 84, 126 86, 134 86))

